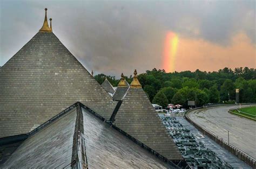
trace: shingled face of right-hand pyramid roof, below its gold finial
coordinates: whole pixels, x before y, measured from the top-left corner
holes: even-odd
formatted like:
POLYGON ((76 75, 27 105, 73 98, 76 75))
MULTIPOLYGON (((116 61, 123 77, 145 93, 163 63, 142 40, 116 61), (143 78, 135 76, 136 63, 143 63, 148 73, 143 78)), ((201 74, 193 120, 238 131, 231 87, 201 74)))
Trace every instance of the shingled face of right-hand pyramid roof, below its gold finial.
POLYGON ((165 126, 142 88, 129 88, 114 122, 117 128, 170 160, 182 160, 165 126))

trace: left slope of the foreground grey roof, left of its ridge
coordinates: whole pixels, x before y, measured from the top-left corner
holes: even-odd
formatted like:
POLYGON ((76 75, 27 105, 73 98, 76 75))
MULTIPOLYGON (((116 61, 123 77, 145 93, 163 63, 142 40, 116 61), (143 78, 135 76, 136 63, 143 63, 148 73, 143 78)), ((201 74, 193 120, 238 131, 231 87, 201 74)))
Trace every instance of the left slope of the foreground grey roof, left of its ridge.
POLYGON ((26 139, 0 168, 70 166, 76 108, 26 139))

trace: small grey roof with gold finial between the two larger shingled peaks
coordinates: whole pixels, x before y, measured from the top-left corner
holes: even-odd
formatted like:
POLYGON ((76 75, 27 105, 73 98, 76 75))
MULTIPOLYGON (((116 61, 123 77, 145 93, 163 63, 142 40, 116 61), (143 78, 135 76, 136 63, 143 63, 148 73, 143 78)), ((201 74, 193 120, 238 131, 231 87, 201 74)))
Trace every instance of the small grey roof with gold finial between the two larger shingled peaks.
POLYGON ((116 91, 114 91, 114 94, 112 96, 114 101, 123 100, 123 97, 124 97, 127 89, 129 88, 129 85, 127 85, 127 83, 128 82, 126 82, 126 80, 124 79, 124 75, 122 73, 120 82, 117 86, 117 89, 116 89, 116 91))

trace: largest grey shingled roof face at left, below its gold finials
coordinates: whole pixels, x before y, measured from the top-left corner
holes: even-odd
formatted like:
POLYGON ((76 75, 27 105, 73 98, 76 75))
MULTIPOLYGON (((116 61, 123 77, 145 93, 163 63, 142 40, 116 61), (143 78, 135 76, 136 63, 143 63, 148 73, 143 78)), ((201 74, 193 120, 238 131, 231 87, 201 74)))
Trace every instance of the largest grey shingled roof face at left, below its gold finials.
POLYGON ((0 69, 0 138, 35 129, 80 101, 109 119, 117 104, 52 32, 38 32, 0 69))

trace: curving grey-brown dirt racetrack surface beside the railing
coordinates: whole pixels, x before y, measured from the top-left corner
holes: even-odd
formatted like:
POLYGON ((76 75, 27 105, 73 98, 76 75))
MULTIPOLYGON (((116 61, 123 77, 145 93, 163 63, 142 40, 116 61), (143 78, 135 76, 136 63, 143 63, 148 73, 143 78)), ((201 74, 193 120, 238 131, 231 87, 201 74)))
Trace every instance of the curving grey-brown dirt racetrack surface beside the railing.
POLYGON ((226 142, 227 131, 230 131, 230 143, 256 159, 256 122, 228 112, 237 107, 228 105, 196 109, 188 112, 187 116, 226 142))

